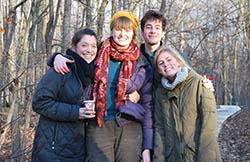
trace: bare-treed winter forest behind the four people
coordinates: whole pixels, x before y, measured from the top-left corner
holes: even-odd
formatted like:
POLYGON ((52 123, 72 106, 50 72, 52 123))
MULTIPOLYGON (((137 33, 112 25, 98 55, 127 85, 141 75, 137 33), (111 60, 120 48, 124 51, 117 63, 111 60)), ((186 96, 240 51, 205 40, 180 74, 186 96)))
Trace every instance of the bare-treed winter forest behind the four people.
POLYGON ((213 80, 218 105, 250 105, 249 0, 0 0, 0 161, 30 158, 37 122, 32 96, 48 57, 70 47, 80 28, 102 41, 116 11, 140 20, 149 9, 167 18, 163 42, 213 80))

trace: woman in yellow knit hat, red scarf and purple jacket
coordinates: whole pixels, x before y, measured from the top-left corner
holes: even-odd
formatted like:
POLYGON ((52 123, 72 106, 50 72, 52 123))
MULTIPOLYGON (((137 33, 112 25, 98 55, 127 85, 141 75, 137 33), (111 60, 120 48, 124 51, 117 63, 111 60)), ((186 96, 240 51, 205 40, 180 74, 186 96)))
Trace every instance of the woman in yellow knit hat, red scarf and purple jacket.
POLYGON ((152 149, 152 69, 138 63, 135 43, 139 23, 127 11, 117 12, 95 61, 93 96, 97 120, 87 127, 87 155, 91 162, 150 161, 152 149), (128 94, 139 92, 140 101, 128 94))

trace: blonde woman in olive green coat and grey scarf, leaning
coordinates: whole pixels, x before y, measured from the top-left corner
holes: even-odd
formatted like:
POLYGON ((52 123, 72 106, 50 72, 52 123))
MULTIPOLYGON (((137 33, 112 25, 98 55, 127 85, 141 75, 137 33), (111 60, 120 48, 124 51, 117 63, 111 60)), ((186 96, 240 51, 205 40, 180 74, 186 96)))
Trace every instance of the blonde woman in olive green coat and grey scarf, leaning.
POLYGON ((154 94, 153 161, 221 162, 213 93, 174 49, 162 47, 154 63, 162 78, 154 94))

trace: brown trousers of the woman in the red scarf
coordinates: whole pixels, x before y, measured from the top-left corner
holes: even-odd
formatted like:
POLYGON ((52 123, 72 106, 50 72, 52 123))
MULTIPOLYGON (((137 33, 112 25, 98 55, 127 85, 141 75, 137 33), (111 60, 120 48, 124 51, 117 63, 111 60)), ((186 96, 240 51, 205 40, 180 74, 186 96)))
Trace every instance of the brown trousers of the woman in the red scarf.
POLYGON ((114 120, 98 127, 90 121, 86 133, 87 162, 139 162, 142 152, 141 124, 129 121, 118 127, 114 120))

